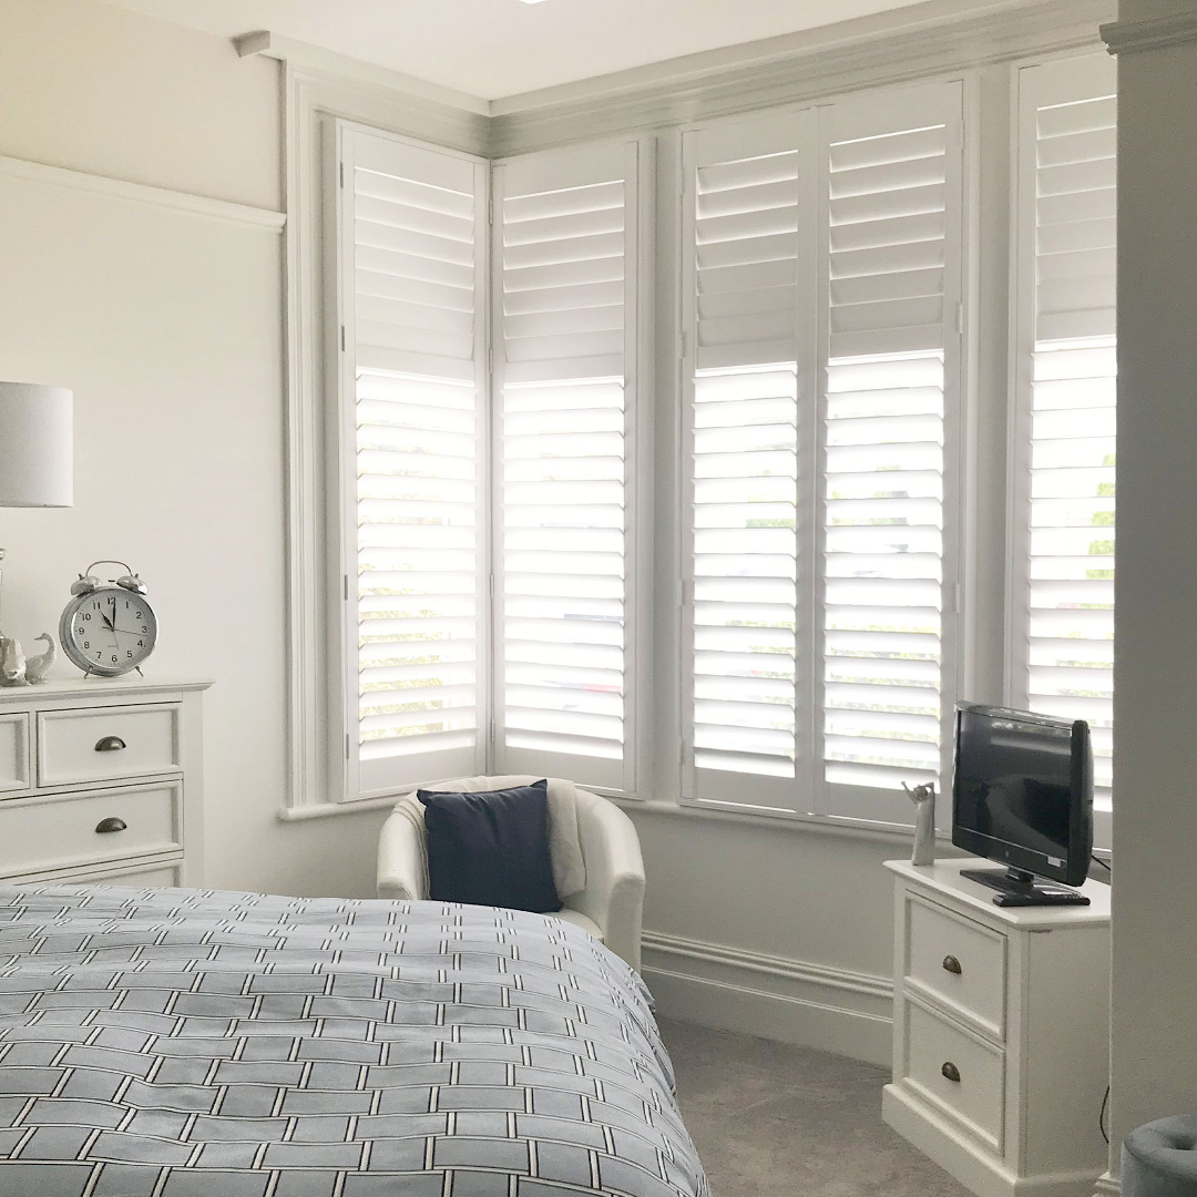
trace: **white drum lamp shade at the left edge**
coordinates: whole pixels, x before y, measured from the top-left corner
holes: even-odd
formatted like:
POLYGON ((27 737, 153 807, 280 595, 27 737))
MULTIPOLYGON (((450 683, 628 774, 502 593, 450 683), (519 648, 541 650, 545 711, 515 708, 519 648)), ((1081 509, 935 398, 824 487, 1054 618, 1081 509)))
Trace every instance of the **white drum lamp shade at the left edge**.
POLYGON ((0 508, 71 506, 73 406, 62 387, 0 382, 0 508))

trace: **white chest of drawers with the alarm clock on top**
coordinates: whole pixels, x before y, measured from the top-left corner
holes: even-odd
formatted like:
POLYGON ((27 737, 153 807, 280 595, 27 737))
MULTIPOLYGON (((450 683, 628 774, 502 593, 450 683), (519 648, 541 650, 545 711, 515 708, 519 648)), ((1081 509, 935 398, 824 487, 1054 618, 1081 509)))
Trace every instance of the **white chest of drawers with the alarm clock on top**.
POLYGON ((0 688, 0 882, 199 885, 207 686, 0 688))

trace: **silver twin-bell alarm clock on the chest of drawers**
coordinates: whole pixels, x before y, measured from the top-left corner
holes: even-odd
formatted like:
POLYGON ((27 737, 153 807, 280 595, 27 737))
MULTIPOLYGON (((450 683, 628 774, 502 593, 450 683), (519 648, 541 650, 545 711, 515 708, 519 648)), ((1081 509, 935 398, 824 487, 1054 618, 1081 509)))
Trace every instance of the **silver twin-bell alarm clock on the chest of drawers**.
POLYGON ((62 651, 85 674, 119 678, 136 669, 158 643, 158 616, 145 583, 123 561, 92 561, 71 587, 59 621, 62 651), (97 565, 120 565, 124 575, 101 581, 97 565))

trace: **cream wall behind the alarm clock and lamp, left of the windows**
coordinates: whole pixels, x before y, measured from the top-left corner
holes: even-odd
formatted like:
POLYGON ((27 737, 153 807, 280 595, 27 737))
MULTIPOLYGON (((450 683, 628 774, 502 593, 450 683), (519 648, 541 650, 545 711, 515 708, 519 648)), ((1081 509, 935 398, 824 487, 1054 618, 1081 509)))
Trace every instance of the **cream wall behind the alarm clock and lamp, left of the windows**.
MULTIPOLYGON (((277 72, 93 0, 0 0, 0 154, 277 208, 277 72)), ((215 680, 207 882, 369 894, 379 814, 277 820, 281 250, 269 229, 0 164, 0 378, 75 393, 74 508, 0 511, 4 626, 56 630, 78 571, 128 560, 162 621, 151 675, 215 680)))

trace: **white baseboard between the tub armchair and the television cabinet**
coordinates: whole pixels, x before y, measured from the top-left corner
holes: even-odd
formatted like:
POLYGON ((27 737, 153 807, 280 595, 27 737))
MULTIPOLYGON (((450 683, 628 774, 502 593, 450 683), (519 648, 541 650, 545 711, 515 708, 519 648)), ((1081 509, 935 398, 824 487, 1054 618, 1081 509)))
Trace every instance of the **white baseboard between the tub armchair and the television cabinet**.
POLYGON ((892 1058, 893 982, 645 931, 642 973, 664 1017, 832 1051, 892 1058))

